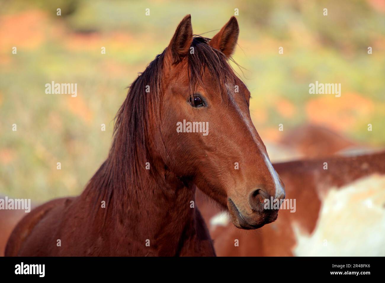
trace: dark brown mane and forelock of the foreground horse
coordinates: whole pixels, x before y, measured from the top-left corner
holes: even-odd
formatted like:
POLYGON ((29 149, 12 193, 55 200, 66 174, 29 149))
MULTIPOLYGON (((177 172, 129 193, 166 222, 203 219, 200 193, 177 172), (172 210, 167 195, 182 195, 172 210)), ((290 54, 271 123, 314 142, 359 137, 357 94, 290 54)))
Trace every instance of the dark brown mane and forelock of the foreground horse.
MULTIPOLYGON (((190 95, 196 87, 204 88, 203 76, 207 68, 216 81, 218 92, 224 97, 229 95, 226 83, 234 81, 234 73, 226 56, 209 45, 208 38, 194 36, 191 47, 194 53, 188 54, 188 74, 190 95)), ((95 207, 100 208, 100 201, 110 203, 126 199, 137 194, 141 186, 139 171, 144 170, 146 162, 151 162, 146 141, 149 114, 159 118, 162 103, 163 62, 167 48, 139 74, 128 90, 126 99, 115 116, 114 139, 107 160, 90 179, 87 189, 98 191, 95 207), (149 92, 146 92, 149 88, 149 92), (134 190, 136 190, 134 192, 134 190)), ((157 119, 160 121, 160 119, 157 119)), ((150 174, 157 172, 151 167, 150 174)), ((85 191, 87 191, 87 189, 85 191)), ((114 202, 115 204, 119 201, 114 202)), ((117 209, 114 206, 114 209, 117 209)))

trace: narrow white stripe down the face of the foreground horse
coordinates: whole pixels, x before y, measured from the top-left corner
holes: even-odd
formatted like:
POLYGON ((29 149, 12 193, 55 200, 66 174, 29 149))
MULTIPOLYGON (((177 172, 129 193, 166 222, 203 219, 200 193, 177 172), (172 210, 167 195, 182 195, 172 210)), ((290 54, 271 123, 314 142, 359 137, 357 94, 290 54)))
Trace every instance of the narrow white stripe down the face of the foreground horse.
POLYGON ((278 179, 278 174, 277 172, 275 171, 273 165, 271 164, 270 162, 270 159, 269 157, 267 156, 267 152, 265 153, 261 143, 258 141, 258 139, 256 139, 256 135, 258 134, 256 129, 254 128, 254 125, 253 123, 251 122, 250 119, 248 119, 248 117, 241 111, 241 109, 239 108, 238 104, 235 102, 234 100, 234 96, 233 96, 233 92, 230 90, 231 88, 229 87, 228 84, 226 84, 226 87, 227 87, 227 90, 229 92, 229 99, 230 101, 232 102, 232 104, 234 105, 237 113, 239 114, 239 116, 242 118, 243 122, 246 124, 246 127, 247 129, 249 130, 251 136, 253 137, 253 140, 254 142, 258 145, 258 149, 259 151, 261 152, 261 154, 263 155, 263 159, 265 161, 265 164, 266 164, 266 167, 268 168, 269 172, 270 172, 270 175, 271 175, 271 178, 273 178, 273 181, 274 181, 274 184, 275 184, 275 196, 274 198, 277 198, 278 196, 282 196, 282 195, 285 195, 285 190, 282 188, 281 186, 281 183, 280 183, 280 180, 278 179))

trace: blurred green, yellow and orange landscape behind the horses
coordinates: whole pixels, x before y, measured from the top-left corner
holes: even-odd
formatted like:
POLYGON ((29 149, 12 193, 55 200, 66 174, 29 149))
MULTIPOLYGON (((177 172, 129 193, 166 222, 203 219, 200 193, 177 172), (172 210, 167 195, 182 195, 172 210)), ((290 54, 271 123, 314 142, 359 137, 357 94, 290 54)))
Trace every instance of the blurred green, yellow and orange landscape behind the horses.
POLYGON ((107 157, 126 87, 168 45, 184 15, 191 14, 195 34, 213 37, 235 8, 233 58, 245 69, 233 65, 273 161, 310 157, 309 146, 295 145, 314 129, 346 146, 385 144, 382 0, 1 0, 0 195, 40 203, 79 194, 107 157), (77 97, 45 94, 52 80, 77 83, 77 97), (309 94, 316 80, 340 83, 341 97, 309 94))

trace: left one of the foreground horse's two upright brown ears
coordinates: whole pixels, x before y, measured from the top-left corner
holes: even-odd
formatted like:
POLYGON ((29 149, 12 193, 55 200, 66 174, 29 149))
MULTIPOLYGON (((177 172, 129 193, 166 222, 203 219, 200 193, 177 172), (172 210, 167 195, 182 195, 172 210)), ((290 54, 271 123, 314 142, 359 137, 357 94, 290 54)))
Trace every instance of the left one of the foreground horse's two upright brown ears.
POLYGON ((180 62, 184 56, 188 55, 192 42, 191 15, 186 15, 179 23, 174 36, 167 47, 167 59, 171 64, 180 62))

